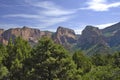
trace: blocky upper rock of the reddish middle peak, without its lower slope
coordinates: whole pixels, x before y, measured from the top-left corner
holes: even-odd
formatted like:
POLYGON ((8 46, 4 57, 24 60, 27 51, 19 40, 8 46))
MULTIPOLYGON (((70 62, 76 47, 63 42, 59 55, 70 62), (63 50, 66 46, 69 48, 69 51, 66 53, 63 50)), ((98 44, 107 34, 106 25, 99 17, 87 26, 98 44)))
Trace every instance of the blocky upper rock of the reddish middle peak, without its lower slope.
POLYGON ((59 44, 65 44, 65 43, 75 43, 76 42, 76 35, 74 30, 58 27, 57 32, 54 36, 55 42, 59 44))

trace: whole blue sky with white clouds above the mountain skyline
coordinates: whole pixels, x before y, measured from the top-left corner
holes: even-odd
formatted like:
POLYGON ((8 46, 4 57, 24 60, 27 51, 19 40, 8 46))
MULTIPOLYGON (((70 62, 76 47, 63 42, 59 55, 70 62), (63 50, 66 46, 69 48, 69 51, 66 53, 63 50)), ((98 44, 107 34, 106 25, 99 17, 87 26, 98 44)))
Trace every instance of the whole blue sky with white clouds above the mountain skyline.
POLYGON ((102 29, 119 21, 119 0, 0 0, 4 29, 28 26, 56 31, 63 26, 79 34, 86 25, 102 29))

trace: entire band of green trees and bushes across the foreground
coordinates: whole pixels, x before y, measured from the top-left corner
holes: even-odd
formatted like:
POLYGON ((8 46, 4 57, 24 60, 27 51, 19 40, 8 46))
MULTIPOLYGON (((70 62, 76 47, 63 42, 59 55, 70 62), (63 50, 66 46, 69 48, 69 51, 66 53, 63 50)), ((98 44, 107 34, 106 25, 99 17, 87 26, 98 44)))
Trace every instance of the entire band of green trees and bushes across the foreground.
POLYGON ((120 53, 73 55, 44 37, 31 48, 18 37, 0 45, 0 80, 120 80, 120 53))

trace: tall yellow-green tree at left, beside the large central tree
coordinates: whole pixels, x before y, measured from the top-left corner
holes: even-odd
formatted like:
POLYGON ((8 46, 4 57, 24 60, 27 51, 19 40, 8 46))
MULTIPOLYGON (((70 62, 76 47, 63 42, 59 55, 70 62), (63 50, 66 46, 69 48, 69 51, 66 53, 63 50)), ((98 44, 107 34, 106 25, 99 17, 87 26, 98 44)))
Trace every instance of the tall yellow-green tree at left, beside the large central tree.
POLYGON ((14 43, 12 40, 7 45, 8 57, 5 60, 11 80, 23 80, 24 75, 24 60, 30 57, 31 47, 27 41, 18 37, 14 43))

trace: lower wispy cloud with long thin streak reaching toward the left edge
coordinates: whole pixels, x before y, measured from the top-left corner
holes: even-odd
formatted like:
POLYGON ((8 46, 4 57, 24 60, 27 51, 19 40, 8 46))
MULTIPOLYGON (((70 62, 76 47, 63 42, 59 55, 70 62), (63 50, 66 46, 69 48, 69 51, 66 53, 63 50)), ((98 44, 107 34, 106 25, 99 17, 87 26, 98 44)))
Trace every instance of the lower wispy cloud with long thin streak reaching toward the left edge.
POLYGON ((60 16, 60 17, 46 17, 43 15, 29 15, 29 14, 9 14, 4 15, 4 18, 26 18, 26 19, 35 19, 35 21, 39 22, 35 24, 33 27, 35 28, 46 28, 49 26, 53 26, 55 24, 65 22, 72 18, 72 16, 60 16))

